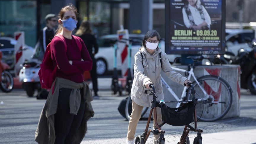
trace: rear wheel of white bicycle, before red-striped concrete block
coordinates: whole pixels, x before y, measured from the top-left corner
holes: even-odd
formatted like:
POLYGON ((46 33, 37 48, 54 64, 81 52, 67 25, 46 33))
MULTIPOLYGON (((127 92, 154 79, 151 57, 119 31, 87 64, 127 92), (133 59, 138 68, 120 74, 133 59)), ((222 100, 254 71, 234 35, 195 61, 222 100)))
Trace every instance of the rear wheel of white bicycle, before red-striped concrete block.
MULTIPOLYGON (((232 104, 232 91, 229 84, 224 79, 212 75, 202 76, 197 81, 199 84, 196 81, 193 82, 196 93, 199 95, 195 94, 198 99, 197 118, 199 119, 202 115, 200 119, 203 121, 215 121, 225 116, 232 104)), ((192 100, 190 90, 186 93, 186 99, 192 100)))

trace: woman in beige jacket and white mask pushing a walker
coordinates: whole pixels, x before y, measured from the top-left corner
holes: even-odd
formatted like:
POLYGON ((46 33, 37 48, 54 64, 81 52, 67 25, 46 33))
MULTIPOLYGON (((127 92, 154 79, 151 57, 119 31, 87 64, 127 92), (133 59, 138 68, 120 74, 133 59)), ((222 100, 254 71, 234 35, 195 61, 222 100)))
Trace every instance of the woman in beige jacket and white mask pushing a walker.
MULTIPOLYGON (((158 99, 164 99, 160 74, 161 69, 172 81, 175 81, 181 85, 185 86, 188 82, 191 82, 180 73, 177 73, 172 69, 166 53, 161 52, 161 49, 157 47, 159 40, 160 35, 157 31, 148 31, 145 34, 142 42, 143 47, 141 47, 139 52, 137 52, 135 55, 134 80, 131 89, 132 114, 128 126, 126 140, 127 144, 134 143, 135 131, 143 107, 151 107, 151 99, 153 96, 144 94, 144 91, 150 89, 149 85, 153 84, 156 89, 158 99), (160 62, 159 53, 161 53, 162 65, 160 62)), ((154 115, 153 119, 155 119, 154 115)), ((157 108, 157 123, 160 124, 161 121, 161 108, 157 108)), ((154 123, 153 126, 155 126, 154 123)), ((158 138, 158 135, 154 135, 155 143, 158 138)))

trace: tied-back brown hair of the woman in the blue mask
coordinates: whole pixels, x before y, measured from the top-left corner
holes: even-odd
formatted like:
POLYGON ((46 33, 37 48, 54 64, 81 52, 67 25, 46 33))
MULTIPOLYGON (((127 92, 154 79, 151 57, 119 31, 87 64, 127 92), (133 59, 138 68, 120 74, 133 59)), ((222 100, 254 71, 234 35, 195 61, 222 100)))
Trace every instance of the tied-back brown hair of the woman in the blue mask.
MULTIPOLYGON (((62 20, 65 12, 67 12, 67 11, 73 11, 76 14, 76 19, 78 18, 78 12, 77 12, 76 7, 73 4, 68 4, 67 6, 63 7, 60 10, 59 15, 58 15, 58 19, 62 20)), ((58 23, 58 28, 56 30, 56 34, 60 33, 61 31, 62 31, 62 24, 58 23)))

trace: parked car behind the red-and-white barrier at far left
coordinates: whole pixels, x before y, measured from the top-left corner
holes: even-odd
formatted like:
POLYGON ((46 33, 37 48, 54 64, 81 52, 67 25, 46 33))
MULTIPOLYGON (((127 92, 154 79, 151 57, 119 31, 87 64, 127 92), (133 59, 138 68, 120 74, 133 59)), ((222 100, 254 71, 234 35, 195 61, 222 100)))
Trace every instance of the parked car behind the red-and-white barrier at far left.
MULTIPOLYGON (((13 73, 15 66, 14 46, 16 43, 17 41, 11 37, 0 37, 0 50, 3 53, 2 61, 10 66, 11 73, 13 73)), ((33 47, 25 45, 22 52, 25 60, 30 60, 34 49, 33 47)))

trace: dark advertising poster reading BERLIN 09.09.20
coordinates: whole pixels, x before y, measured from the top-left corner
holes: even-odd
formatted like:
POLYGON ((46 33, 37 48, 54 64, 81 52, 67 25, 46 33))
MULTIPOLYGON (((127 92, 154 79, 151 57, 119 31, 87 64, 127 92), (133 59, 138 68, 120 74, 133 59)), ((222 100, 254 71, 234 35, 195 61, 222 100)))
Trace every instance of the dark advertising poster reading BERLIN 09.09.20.
POLYGON ((223 54, 225 1, 166 1, 167 54, 223 54))

